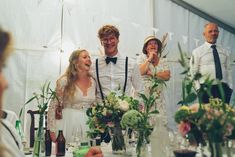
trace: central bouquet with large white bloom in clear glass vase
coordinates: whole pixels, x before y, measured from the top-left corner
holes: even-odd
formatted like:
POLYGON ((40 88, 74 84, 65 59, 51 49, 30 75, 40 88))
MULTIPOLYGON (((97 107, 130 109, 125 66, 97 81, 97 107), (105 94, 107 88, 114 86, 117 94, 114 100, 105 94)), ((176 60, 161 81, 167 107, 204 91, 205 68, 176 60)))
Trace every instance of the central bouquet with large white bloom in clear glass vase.
POLYGON ((104 142, 110 141, 110 132, 113 134, 112 148, 114 151, 125 149, 124 138, 120 121, 123 114, 138 105, 138 101, 126 95, 118 96, 115 92, 105 98, 104 102, 97 103, 87 110, 88 136, 95 138, 101 135, 104 142))

